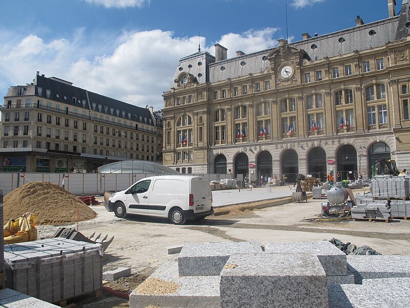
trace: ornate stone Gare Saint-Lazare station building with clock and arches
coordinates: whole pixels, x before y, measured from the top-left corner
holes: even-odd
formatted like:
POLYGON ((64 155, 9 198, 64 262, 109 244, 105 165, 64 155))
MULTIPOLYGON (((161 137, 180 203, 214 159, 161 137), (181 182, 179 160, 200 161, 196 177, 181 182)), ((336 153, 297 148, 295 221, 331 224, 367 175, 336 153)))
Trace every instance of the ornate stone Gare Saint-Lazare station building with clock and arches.
MULTIPOLYGON (((410 166, 410 4, 384 20, 279 40, 250 54, 182 57, 163 93, 163 164, 256 180, 410 166)), ((351 173, 349 173, 351 172, 351 173)))

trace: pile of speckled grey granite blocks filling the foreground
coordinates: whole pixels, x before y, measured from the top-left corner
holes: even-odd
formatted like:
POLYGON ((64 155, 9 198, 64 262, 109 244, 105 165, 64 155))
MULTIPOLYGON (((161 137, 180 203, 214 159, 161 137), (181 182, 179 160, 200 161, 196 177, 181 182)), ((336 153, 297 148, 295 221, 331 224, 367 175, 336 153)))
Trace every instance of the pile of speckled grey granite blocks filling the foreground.
POLYGON ((346 256, 329 241, 186 244, 130 307, 408 307, 409 289, 410 257, 346 256))

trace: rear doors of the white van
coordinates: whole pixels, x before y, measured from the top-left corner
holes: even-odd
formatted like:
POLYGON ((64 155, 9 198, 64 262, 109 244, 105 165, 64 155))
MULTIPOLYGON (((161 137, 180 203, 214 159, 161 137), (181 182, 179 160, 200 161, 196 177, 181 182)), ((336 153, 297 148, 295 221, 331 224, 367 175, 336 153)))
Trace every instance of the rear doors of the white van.
POLYGON ((212 192, 209 181, 204 178, 192 178, 190 194, 194 196, 194 213, 209 211, 212 207, 212 192))

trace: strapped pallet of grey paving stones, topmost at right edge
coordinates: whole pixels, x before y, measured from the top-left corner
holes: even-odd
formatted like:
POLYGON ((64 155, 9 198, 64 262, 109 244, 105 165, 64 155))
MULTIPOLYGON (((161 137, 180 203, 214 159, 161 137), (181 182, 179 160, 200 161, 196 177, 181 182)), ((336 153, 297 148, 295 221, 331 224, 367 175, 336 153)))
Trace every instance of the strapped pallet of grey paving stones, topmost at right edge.
POLYGON ((376 176, 371 183, 374 198, 408 199, 408 178, 393 176, 376 176))

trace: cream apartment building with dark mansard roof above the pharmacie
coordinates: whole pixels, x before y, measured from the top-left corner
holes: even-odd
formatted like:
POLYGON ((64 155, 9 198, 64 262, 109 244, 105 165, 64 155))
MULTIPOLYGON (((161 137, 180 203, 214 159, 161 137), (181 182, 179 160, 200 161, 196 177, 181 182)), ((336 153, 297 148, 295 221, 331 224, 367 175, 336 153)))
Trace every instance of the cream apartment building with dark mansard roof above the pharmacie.
POLYGON ((96 172, 122 160, 160 161, 162 114, 37 72, 1 107, 4 172, 96 172), (159 127, 159 129, 158 129, 159 127))

